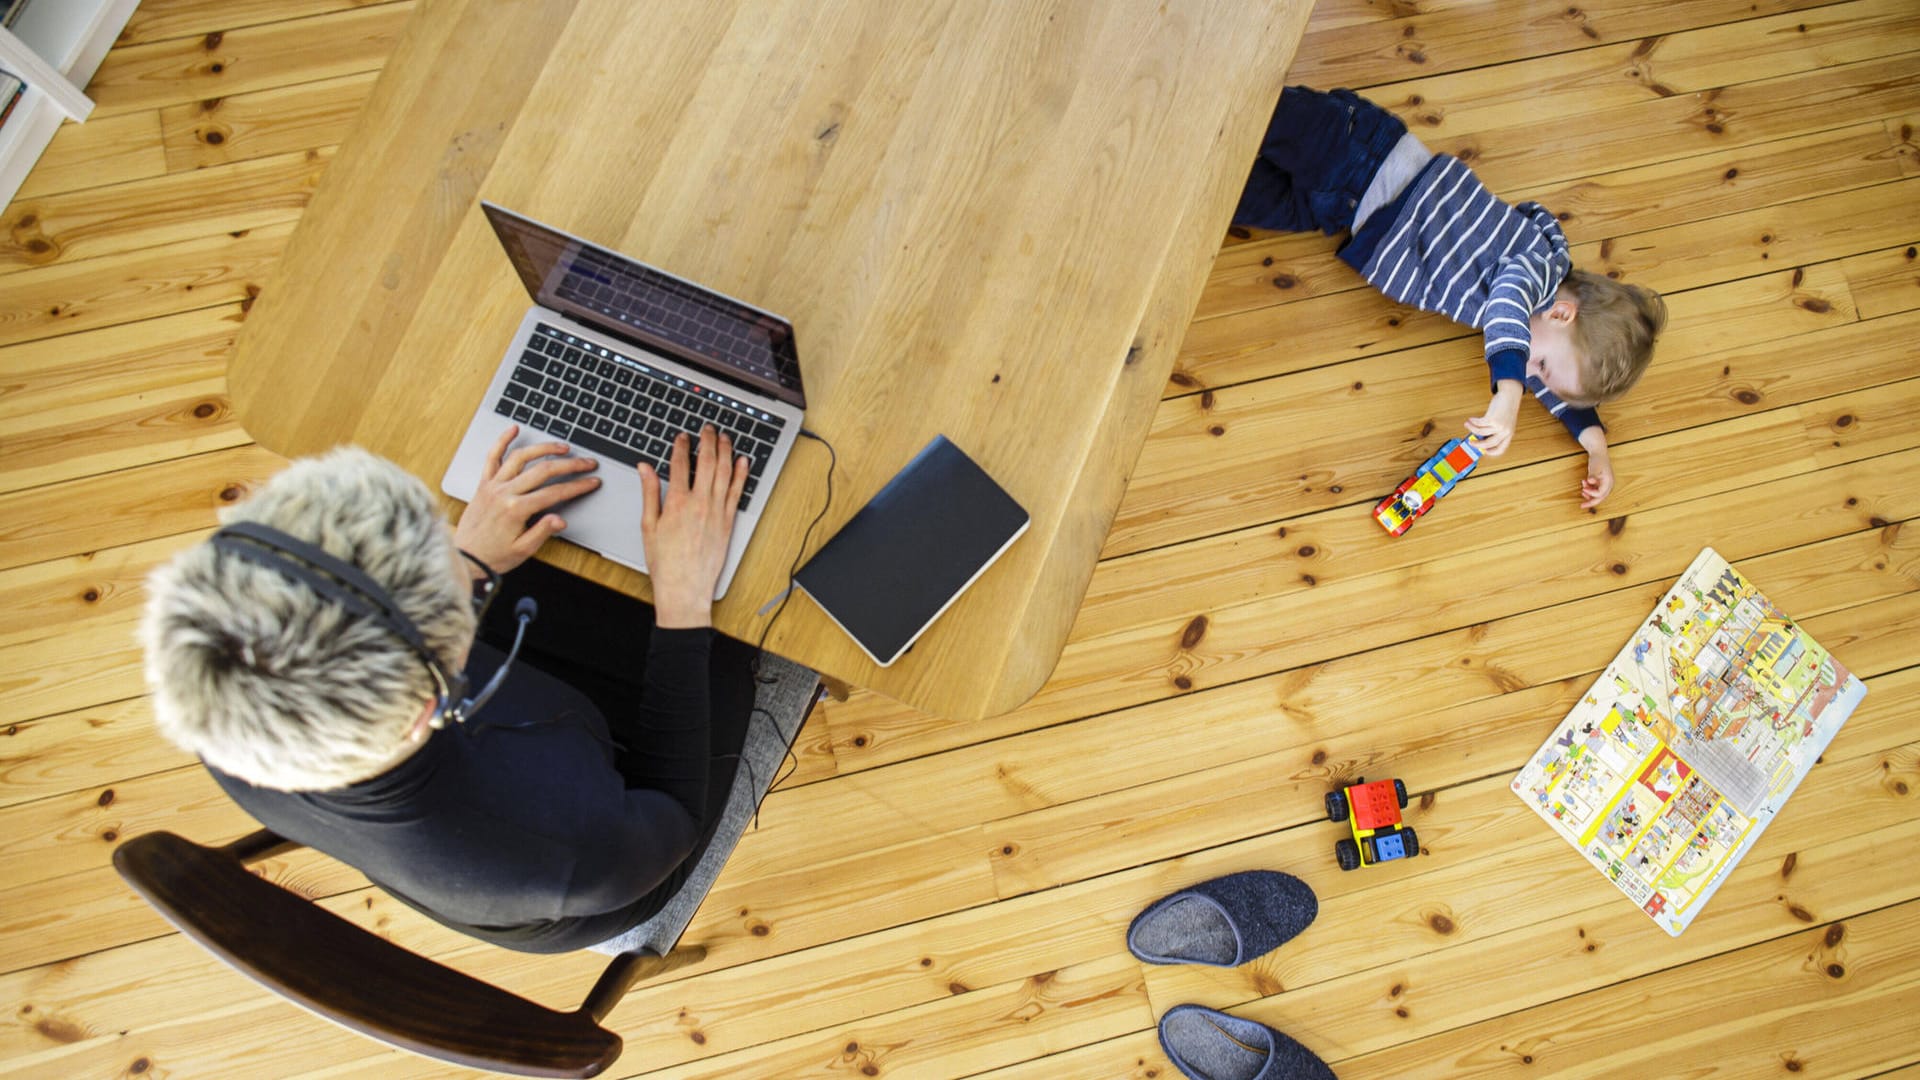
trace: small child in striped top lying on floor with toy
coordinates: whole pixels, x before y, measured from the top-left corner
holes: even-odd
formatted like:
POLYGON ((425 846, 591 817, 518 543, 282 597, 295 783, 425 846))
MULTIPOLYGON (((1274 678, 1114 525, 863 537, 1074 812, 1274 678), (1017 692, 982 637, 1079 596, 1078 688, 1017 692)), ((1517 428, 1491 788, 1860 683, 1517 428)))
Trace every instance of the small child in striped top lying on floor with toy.
POLYGON ((1500 202, 1461 160, 1432 154, 1352 90, 1288 86, 1233 219, 1329 236, 1352 229, 1340 259, 1375 288, 1486 334, 1494 400, 1467 421, 1480 450, 1507 450, 1524 386, 1586 448, 1580 505, 1613 490, 1607 429, 1592 405, 1647 369, 1667 304, 1651 288, 1572 269, 1546 208, 1500 202))

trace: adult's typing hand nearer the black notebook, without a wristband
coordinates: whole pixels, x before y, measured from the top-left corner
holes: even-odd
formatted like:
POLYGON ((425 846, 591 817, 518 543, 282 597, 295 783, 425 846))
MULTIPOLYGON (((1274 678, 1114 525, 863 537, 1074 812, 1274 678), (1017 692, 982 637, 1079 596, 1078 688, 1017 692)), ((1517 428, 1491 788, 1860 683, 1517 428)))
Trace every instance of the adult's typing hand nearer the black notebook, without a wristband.
POLYGON ((691 454, 687 436, 680 434, 670 463, 664 494, 653 465, 637 465, 653 625, 668 630, 712 626, 714 586, 726 569, 733 515, 747 486, 747 457, 735 457, 733 440, 705 425, 699 454, 691 454))

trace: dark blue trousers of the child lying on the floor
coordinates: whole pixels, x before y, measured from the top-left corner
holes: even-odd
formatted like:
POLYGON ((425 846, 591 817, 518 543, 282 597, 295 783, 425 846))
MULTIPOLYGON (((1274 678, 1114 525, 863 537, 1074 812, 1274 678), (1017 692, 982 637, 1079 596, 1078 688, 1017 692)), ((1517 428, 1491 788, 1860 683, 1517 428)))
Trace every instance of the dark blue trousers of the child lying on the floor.
POLYGON ((1329 236, 1348 229, 1380 161, 1405 133, 1400 117, 1352 90, 1288 86, 1233 223, 1329 236))

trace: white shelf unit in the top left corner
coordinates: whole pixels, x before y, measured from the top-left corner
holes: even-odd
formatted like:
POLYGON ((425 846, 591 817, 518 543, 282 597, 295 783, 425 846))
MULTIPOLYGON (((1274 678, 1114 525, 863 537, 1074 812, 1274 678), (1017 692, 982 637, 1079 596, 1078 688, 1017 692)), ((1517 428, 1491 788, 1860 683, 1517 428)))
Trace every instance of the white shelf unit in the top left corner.
POLYGON ((140 0, 31 0, 13 27, 0 27, 0 69, 27 83, 0 125, 0 208, 13 202, 61 121, 83 121, 94 110, 84 86, 138 6, 140 0))

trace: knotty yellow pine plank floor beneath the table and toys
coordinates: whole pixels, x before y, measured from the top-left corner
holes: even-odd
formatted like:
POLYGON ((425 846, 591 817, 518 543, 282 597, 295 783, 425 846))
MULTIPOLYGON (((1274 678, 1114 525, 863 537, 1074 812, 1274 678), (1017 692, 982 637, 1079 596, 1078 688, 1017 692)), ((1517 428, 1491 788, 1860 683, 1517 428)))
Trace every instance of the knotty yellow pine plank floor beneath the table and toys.
MULTIPOLYGON (((238 809, 150 728, 140 580, 284 463, 234 332, 411 2, 146 0, 0 213, 0 1074, 447 1076, 228 972, 108 869, 238 809)), ((1478 346, 1321 236, 1231 236, 1073 640, 1023 709, 820 709, 701 909, 708 959, 611 1017, 618 1076, 1164 1078, 1181 1001, 1357 1076, 1914 1076, 1920 1063, 1920 6, 1321 0, 1292 81, 1361 86, 1576 263, 1667 292, 1607 411, 1619 488, 1530 409, 1402 540, 1367 507, 1478 411, 1478 346), (1505 784, 1703 546, 1868 678, 1668 940, 1505 784), (1336 778, 1417 792, 1342 874, 1336 778), (1217 872, 1319 920, 1236 970, 1123 947, 1217 872)), ((461 940, 323 857, 275 878, 572 1007, 593 957, 461 940)))

